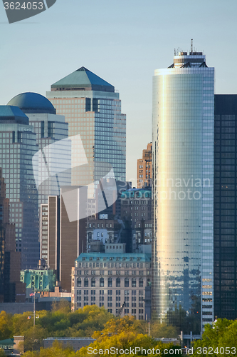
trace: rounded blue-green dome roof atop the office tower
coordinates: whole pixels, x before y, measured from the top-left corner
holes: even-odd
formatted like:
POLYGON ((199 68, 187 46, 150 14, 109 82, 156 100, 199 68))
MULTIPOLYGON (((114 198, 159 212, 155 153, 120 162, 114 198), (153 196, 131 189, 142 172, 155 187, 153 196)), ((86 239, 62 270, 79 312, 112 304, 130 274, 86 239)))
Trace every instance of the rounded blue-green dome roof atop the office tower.
POLYGON ((18 106, 26 114, 56 114, 56 109, 51 101, 38 93, 27 92, 18 94, 17 96, 14 96, 7 105, 18 106))

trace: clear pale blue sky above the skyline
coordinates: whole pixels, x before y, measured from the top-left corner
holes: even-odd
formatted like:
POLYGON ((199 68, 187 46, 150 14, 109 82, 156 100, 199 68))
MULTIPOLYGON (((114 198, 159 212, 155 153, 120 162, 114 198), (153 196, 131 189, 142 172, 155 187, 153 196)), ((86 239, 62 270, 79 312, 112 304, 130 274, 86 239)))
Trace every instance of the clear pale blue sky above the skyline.
POLYGON ((80 66, 120 91, 127 114, 127 179, 152 141, 152 76, 194 39, 216 68, 216 94, 237 94, 236 0, 57 0, 43 13, 8 24, 0 4, 0 104, 16 94, 46 94, 80 66))

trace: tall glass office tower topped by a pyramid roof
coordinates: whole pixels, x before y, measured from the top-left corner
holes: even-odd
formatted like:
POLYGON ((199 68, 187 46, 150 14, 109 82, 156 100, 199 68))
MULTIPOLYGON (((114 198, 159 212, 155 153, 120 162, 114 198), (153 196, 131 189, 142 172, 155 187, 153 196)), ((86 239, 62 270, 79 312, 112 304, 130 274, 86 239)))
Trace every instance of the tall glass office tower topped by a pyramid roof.
MULTIPOLYGON (((69 136, 80 134, 83 142, 83 153, 73 144, 73 164, 79 167, 72 173, 72 184, 100 180, 107 174, 106 163, 112 165, 116 180, 125 181, 126 116, 121 114, 115 87, 81 67, 53 84, 46 96, 65 116, 69 136), (83 160, 85 154, 87 160, 83 160)), ((88 188, 89 196, 93 190, 88 188)))

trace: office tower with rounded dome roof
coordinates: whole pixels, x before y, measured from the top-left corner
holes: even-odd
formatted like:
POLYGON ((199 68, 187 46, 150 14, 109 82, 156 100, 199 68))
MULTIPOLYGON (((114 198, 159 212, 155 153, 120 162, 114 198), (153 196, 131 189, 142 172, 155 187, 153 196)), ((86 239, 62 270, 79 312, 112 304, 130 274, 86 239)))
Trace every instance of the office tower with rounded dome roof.
POLYGON ((40 153, 37 155, 40 207, 41 203, 48 202, 48 196, 60 194, 60 186, 70 185, 70 143, 63 141, 62 145, 52 145, 68 138, 68 123, 65 123, 64 116, 56 114, 51 101, 41 94, 21 93, 14 96, 8 105, 18 106, 28 116, 36 133, 40 153))

